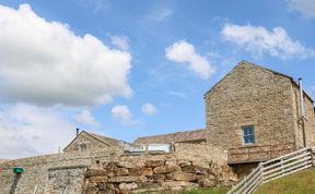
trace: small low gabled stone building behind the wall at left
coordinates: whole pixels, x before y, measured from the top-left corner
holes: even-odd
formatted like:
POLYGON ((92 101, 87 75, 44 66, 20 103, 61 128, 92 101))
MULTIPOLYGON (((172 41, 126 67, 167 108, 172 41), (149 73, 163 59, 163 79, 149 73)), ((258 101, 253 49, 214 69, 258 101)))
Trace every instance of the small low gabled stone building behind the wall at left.
POLYGON ((100 150, 110 147, 118 147, 124 144, 122 141, 117 141, 103 135, 96 135, 94 133, 82 131, 73 141, 63 149, 63 153, 69 151, 86 151, 86 150, 100 150))

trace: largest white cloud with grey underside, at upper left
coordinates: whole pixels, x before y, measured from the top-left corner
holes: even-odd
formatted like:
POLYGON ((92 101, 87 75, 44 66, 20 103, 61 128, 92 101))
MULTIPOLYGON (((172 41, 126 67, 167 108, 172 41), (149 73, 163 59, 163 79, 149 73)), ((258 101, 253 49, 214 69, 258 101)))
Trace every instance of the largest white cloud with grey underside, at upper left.
POLYGON ((0 99, 85 106, 129 97, 131 56, 48 22, 28 4, 0 5, 0 99))

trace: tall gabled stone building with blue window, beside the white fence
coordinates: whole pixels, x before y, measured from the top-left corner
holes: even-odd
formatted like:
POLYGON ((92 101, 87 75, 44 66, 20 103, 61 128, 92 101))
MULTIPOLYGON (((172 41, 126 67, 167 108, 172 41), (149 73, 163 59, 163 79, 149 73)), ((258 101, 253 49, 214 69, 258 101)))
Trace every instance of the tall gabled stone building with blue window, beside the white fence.
POLYGON ((208 142, 225 149, 232 167, 314 145, 313 100, 303 90, 302 117, 300 86, 288 75, 242 61, 205 100, 208 142))

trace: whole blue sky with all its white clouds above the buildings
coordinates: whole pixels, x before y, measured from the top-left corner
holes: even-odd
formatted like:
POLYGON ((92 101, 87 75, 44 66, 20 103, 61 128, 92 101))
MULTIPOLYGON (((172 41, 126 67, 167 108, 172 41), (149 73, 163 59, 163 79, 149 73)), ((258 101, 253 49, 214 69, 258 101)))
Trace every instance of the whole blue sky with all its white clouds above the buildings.
POLYGON ((0 0, 0 158, 203 129, 242 60, 315 97, 315 0, 0 0))

